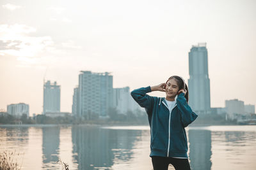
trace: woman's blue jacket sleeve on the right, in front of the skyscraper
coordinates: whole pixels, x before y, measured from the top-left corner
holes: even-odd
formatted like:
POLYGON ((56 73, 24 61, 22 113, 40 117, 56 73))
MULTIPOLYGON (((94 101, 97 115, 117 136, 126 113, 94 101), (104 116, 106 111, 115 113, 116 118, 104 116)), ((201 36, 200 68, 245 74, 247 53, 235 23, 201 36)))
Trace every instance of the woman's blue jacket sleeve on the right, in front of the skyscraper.
POLYGON ((187 127, 194 120, 196 120, 198 115, 196 115, 196 113, 194 113, 191 110, 190 106, 188 105, 188 103, 186 101, 184 93, 180 93, 179 94, 179 96, 176 99, 176 102, 177 102, 177 107, 178 107, 178 109, 181 112, 181 122, 182 122, 182 125, 184 127, 187 127))

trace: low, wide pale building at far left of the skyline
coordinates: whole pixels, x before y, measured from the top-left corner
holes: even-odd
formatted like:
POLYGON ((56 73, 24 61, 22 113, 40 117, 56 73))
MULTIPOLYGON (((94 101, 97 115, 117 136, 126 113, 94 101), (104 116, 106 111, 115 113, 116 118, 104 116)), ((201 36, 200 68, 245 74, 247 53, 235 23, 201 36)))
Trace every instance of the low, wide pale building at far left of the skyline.
POLYGON ((29 117, 29 105, 25 103, 10 104, 7 106, 7 112, 13 117, 21 117, 23 114, 29 117))

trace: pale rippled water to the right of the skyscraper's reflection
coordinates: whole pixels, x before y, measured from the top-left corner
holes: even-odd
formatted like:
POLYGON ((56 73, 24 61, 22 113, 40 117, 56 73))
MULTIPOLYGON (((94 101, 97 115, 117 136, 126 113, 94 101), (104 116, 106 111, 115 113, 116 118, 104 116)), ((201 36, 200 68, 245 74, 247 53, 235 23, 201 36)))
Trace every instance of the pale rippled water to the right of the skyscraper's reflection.
POLYGON ((256 169, 256 133, 254 131, 212 132, 213 169, 256 169))

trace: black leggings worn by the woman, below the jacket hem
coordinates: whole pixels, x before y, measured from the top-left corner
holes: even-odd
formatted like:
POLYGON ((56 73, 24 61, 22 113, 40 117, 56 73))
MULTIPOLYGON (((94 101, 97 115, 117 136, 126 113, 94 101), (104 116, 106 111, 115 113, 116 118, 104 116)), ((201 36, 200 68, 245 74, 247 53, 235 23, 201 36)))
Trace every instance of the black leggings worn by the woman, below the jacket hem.
POLYGON ((175 170, 191 170, 188 159, 156 156, 151 158, 154 170, 168 170, 169 164, 172 164, 175 170))

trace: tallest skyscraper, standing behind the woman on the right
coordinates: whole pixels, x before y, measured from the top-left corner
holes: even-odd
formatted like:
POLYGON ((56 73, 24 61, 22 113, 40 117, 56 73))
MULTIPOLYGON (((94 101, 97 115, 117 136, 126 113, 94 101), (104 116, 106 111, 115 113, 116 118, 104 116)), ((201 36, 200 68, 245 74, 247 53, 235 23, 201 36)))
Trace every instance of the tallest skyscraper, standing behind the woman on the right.
POLYGON ((192 46, 189 52, 189 105, 196 113, 210 113, 210 80, 206 43, 192 46))

